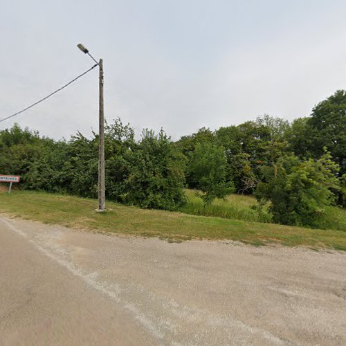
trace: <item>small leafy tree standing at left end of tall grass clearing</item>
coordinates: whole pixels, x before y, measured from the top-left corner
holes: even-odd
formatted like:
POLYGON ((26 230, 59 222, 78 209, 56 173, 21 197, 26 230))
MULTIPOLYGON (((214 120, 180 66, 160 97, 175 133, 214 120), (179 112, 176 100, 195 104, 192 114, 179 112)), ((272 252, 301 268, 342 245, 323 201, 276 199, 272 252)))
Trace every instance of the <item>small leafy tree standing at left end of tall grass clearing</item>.
POLYGON ((197 143, 190 162, 190 176, 197 188, 204 192, 201 196, 205 204, 215 198, 224 198, 234 191, 231 183, 226 183, 227 158, 224 147, 212 143, 197 143))

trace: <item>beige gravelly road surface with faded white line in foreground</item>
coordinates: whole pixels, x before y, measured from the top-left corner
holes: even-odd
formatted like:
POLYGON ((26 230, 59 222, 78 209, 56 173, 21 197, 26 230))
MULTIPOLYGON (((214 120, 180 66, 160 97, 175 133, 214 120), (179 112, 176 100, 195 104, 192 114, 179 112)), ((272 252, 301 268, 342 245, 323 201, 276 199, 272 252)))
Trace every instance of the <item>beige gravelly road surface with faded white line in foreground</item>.
POLYGON ((0 217, 0 345, 346 345, 346 254, 0 217))

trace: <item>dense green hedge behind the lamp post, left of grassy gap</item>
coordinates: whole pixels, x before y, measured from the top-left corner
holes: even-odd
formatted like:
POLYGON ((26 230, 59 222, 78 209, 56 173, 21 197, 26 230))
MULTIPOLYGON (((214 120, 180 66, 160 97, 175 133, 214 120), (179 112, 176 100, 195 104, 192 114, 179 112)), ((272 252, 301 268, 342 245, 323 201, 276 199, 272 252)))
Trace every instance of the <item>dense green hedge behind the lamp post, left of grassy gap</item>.
MULTIPOLYGON (((19 174, 21 188, 97 197, 97 134, 55 142, 15 125, 0 131, 0 146, 0 172, 19 174)), ((185 203, 185 158, 163 131, 145 131, 137 143, 120 119, 107 124, 105 167, 107 199, 167 210, 185 203)))

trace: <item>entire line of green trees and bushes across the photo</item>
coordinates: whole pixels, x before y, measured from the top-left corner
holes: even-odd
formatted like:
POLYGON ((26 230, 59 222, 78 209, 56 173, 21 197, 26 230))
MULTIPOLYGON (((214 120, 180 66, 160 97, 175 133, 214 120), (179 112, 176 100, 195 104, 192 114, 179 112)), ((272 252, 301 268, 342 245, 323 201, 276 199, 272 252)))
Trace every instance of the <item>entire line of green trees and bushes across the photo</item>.
MULTIPOLYGON (((0 131, 0 173, 19 174, 21 188, 97 197, 98 134, 53 140, 14 125, 0 131)), ((184 188, 204 203, 231 192, 270 202, 273 221, 318 226, 327 206, 345 207, 346 91, 336 91, 293 122, 264 115, 215 131, 201 128, 173 141, 165 131, 105 126, 107 199, 177 210, 184 188), (317 222, 317 224, 316 224, 317 222)))

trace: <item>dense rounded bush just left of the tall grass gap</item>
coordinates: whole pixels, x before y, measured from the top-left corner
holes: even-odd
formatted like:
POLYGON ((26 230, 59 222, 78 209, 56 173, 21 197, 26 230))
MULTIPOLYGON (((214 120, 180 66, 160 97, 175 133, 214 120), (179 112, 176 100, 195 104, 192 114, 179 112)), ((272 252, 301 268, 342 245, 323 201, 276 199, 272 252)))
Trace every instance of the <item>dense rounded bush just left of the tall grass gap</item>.
POLYGON ((185 158, 161 130, 143 131, 129 158, 127 199, 142 208, 175 210, 185 203, 185 158))

